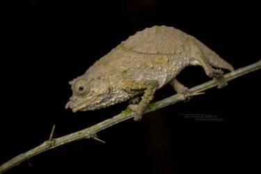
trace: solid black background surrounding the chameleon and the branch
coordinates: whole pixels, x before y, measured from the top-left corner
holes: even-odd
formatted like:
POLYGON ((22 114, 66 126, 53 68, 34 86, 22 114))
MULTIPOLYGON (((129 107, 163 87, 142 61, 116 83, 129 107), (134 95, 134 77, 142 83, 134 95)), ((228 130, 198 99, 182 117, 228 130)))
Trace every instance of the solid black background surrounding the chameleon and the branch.
MULTIPOLYGON (((120 113, 127 102, 72 113, 68 81, 120 41, 149 26, 189 33, 236 69, 260 60, 260 11, 251 3, 189 1, 21 1, 1 5, 0 163, 49 138, 76 132, 120 113)), ((188 87, 209 80, 189 67, 188 87)), ((141 122, 127 120, 89 139, 49 150, 6 173, 225 173, 253 168, 258 146, 260 71, 226 88, 207 90, 141 122), (200 121, 182 114, 206 114, 200 121), (31 164, 31 165, 29 165, 31 164), (251 164, 251 166, 248 166, 251 164)), ((173 95, 170 86, 155 100, 173 95)))

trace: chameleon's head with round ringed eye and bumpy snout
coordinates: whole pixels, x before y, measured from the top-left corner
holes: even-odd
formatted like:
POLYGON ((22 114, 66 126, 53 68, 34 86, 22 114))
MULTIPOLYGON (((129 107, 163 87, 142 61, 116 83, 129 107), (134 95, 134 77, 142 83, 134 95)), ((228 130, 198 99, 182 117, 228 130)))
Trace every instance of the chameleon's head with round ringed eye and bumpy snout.
POLYGON ((65 109, 88 111, 106 107, 111 95, 109 80, 105 77, 78 77, 69 84, 72 86, 72 97, 65 109))

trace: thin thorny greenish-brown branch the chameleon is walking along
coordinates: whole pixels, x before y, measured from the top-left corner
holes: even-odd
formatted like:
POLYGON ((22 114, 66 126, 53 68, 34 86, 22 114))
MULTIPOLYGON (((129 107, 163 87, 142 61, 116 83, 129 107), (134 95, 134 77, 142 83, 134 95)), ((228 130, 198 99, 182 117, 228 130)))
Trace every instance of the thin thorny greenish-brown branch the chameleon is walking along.
MULTIPOLYGON (((238 70, 225 74, 225 79, 226 79, 226 81, 231 81, 232 79, 241 77, 244 74, 253 72, 255 70, 260 70, 260 69, 261 69, 261 60, 256 63, 253 63, 251 65, 248 65, 244 68, 239 68, 238 70)), ((192 95, 199 95, 202 93, 202 91, 207 90, 209 88, 213 88, 214 86, 216 86, 216 82, 214 80, 207 81, 204 84, 200 84, 198 86, 195 86, 195 87, 189 89, 189 95, 187 95, 187 96, 184 96, 182 94, 176 94, 176 95, 168 97, 164 100, 161 100, 159 102, 149 104, 145 113, 150 112, 150 111, 155 111, 157 109, 161 109, 162 107, 168 106, 170 104, 175 104, 177 102, 185 100, 186 97, 189 97, 192 95)), ((4 163, 0 166, 0 173, 8 171, 10 168, 13 168, 14 166, 17 166, 18 164, 22 163, 22 161, 26 161, 27 159, 34 157, 35 155, 38 155, 42 152, 45 152, 46 150, 50 150, 52 148, 57 148, 60 145, 71 143, 73 141, 77 141, 80 139, 90 139, 90 138, 101 141, 96 136, 97 132, 100 132, 103 129, 111 127, 112 125, 116 125, 117 123, 122 122, 124 120, 128 120, 129 118, 132 118, 133 116, 134 116, 134 113, 130 109, 126 109, 125 111, 122 111, 122 113, 114 116, 113 118, 104 120, 100 123, 97 123, 96 125, 86 128, 86 129, 83 129, 78 132, 74 132, 72 134, 68 134, 68 135, 65 135, 65 136, 62 136, 62 137, 56 138, 56 139, 52 138, 52 136, 54 134, 54 127, 55 127, 54 126, 49 140, 43 142, 36 148, 33 148, 27 152, 24 152, 24 153, 18 155, 17 157, 10 159, 9 161, 6 161, 6 163, 4 163)), ((105 143, 104 141, 101 141, 101 142, 105 143)))

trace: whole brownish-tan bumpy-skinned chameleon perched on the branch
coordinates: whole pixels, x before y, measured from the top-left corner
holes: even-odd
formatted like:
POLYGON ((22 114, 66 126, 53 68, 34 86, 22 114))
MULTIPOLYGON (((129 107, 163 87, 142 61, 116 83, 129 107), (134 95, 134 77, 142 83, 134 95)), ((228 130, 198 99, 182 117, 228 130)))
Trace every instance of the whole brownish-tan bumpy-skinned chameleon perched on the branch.
POLYGON ((202 42, 178 29, 153 26, 138 31, 69 82, 73 94, 65 109, 100 109, 142 95, 139 104, 129 104, 135 112, 134 120, 141 120, 155 91, 162 86, 171 84, 177 93, 188 92, 175 77, 189 65, 203 67, 218 88, 227 83, 223 71, 212 66, 234 70, 202 42))

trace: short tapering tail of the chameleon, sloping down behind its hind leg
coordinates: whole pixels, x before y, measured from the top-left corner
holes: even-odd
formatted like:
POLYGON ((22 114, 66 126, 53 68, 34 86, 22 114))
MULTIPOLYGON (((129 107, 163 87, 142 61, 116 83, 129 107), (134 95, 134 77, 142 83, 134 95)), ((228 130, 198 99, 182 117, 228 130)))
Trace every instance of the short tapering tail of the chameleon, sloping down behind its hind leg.
POLYGON ((207 46, 205 46, 202 42, 198 41, 197 39, 194 41, 196 42, 196 45, 198 45, 199 49, 203 53, 207 63, 209 63, 210 65, 216 68, 222 68, 230 71, 234 70, 234 68, 232 67, 232 65, 230 65, 230 63, 223 60, 218 54, 216 54, 207 46))

